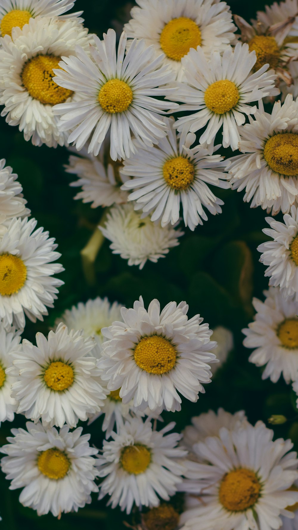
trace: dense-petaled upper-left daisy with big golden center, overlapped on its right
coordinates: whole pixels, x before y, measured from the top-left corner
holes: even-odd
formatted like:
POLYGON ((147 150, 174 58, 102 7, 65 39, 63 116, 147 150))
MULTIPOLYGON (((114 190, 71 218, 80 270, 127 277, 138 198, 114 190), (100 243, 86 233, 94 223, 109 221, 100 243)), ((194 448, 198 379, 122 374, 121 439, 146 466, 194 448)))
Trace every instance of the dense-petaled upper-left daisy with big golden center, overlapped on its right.
POLYGON ((77 101, 72 90, 58 87, 53 68, 61 56, 74 55, 76 45, 86 49, 91 36, 76 19, 58 22, 31 18, 23 29, 15 28, 12 38, 1 39, 0 103, 1 116, 9 125, 19 126, 25 140, 33 145, 56 147, 67 143, 67 133, 58 131, 53 105, 77 101))

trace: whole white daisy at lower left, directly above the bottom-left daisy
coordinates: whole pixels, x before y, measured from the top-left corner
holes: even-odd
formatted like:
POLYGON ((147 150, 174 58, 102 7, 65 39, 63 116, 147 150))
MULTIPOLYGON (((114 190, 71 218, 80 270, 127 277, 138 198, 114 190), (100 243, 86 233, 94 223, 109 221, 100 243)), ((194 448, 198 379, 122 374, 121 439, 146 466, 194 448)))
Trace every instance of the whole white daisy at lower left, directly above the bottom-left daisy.
POLYGON ((101 386, 97 359, 91 357, 94 341, 82 331, 69 331, 59 324, 48 339, 36 334, 37 346, 23 340, 22 351, 11 353, 13 367, 8 373, 17 377, 12 395, 19 401, 18 413, 50 427, 67 423, 75 427, 87 414, 100 411, 106 391, 101 386))

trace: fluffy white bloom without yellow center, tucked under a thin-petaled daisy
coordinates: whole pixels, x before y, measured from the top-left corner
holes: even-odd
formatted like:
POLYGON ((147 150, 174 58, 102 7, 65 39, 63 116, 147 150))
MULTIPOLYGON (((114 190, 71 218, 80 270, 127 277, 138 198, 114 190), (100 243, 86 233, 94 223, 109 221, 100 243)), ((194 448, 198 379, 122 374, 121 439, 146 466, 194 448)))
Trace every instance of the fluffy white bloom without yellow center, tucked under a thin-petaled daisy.
POLYGON ((178 237, 184 234, 176 225, 163 228, 160 223, 152 223, 150 217, 143 218, 133 204, 114 206, 104 226, 99 228, 112 242, 113 254, 120 254, 129 265, 138 265, 139 269, 143 269, 147 260, 156 263, 164 258, 173 246, 179 245, 178 237))

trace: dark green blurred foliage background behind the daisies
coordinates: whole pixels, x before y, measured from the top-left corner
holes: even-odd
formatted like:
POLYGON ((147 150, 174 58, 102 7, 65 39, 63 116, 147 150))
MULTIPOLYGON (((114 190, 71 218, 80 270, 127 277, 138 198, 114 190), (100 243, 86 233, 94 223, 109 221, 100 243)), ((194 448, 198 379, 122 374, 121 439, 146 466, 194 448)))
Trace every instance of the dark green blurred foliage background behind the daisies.
MULTIPOLYGON (((121 31, 122 24, 129 18, 133 3, 125 0, 77 0, 75 10, 84 10, 85 25, 90 31, 102 37, 109 27, 121 31)), ((265 2, 231 0, 232 11, 249 20, 256 10, 262 10, 265 2)), ((220 140, 219 140, 220 142, 220 140)), ((197 403, 183 400, 182 411, 164 413, 164 420, 176 421, 181 431, 190 418, 209 408, 223 407, 234 412, 246 410, 251 422, 261 419, 267 422, 271 414, 285 414, 295 418, 295 396, 291 386, 283 381, 272 384, 261 381, 261 369, 248 363, 250 350, 242 346, 241 329, 252 319, 252 295, 262 297, 267 288, 265 268, 259 263, 258 244, 266 241, 261 229, 266 226, 266 213, 259 207, 250 209, 243 202, 243 192, 216 188, 215 193, 225 202, 220 216, 209 216, 208 222, 198 226, 194 233, 186 229, 178 248, 170 251, 157 264, 147 263, 142 271, 128 267, 127 262, 115 256, 105 242, 95 262, 96 279, 86 279, 80 251, 84 248, 98 224, 102 211, 91 209, 81 201, 74 201, 76 190, 69 187, 72 177, 64 172, 67 162, 66 148, 49 149, 46 146, 33 147, 25 142, 17 127, 10 127, 0 119, 0 158, 19 174, 25 198, 38 226, 45 227, 50 236, 56 237, 59 260, 65 267, 61 278, 65 285, 60 289, 55 308, 49 311, 45 322, 27 323, 23 337, 34 341, 37 331, 48 333, 56 317, 66 308, 80 301, 96 296, 108 296, 110 302, 131 306, 140 295, 145 305, 152 298, 159 299, 161 306, 171 300, 186 300, 189 315, 200 313, 211 328, 222 324, 234 334, 235 349, 223 368, 219 369, 212 384, 206 386, 197 403)), ((231 152, 223 150, 225 156, 231 152)), ((279 215, 279 218, 281 216, 279 215)), ((17 416, 13 424, 2 423, 0 445, 5 443, 12 425, 23 427, 24 418, 17 416)), ((84 432, 91 433, 91 443, 102 447, 101 420, 84 432)), ((277 437, 291 436, 298 447, 298 421, 291 421, 275 427, 277 437)), ((8 490, 9 482, 0 472, 0 523, 5 530, 30 528, 74 530, 85 524, 90 530, 121 530, 122 520, 130 519, 120 510, 106 508, 106 500, 93 498, 91 505, 80 509, 77 514, 62 515, 60 521, 51 515, 37 517, 36 512, 24 508, 18 502, 19 491, 8 490)))

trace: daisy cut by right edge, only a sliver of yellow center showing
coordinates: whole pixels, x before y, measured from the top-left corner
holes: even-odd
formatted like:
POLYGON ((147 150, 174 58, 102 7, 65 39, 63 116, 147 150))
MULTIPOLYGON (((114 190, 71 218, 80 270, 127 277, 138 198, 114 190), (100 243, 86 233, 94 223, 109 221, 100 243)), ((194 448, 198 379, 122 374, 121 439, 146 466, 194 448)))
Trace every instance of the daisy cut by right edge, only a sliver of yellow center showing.
POLYGON ((268 266, 265 276, 269 276, 269 285, 281 287, 282 295, 295 295, 298 301, 298 213, 295 206, 291 213, 284 215, 281 223, 271 217, 266 217, 270 228, 264 228, 264 234, 273 241, 267 241, 258 246, 262 252, 261 263, 268 266))

